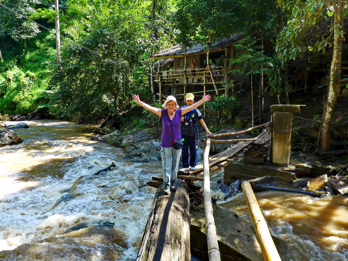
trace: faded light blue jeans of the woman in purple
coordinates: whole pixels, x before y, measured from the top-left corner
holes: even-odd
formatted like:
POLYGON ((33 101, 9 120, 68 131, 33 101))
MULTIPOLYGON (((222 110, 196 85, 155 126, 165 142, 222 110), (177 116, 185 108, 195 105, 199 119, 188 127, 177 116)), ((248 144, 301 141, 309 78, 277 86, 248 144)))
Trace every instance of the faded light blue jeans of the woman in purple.
POLYGON ((163 148, 161 147, 162 158, 162 174, 163 182, 169 184, 169 181, 176 182, 177 169, 179 167, 179 160, 181 156, 181 149, 163 148))

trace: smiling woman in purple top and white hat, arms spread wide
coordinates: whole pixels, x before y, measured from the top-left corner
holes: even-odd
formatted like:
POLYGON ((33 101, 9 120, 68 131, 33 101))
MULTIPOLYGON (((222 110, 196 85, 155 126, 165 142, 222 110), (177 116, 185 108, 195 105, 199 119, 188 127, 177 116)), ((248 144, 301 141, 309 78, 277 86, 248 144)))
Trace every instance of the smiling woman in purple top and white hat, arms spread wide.
POLYGON ((161 136, 161 158, 162 158, 162 173, 165 195, 169 194, 169 191, 176 190, 176 175, 179 167, 179 160, 182 149, 175 149, 173 144, 176 141, 181 140, 180 133, 180 120, 181 116, 186 112, 189 112, 206 101, 210 101, 210 95, 203 95, 202 100, 191 103, 186 108, 179 108, 176 102, 176 98, 169 95, 163 103, 163 109, 152 107, 151 105, 140 101, 139 95, 133 94, 132 100, 143 108, 156 113, 162 119, 162 136, 161 136), (169 183, 170 182, 170 183, 169 183))

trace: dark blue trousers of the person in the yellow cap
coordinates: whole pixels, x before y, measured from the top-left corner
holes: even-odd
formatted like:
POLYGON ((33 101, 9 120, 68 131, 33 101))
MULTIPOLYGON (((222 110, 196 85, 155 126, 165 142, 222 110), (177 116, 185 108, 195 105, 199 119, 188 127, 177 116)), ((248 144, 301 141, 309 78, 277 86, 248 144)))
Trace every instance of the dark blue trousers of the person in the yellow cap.
POLYGON ((198 130, 196 127, 195 136, 186 136, 181 134, 181 137, 184 138, 184 145, 182 146, 182 167, 188 168, 196 167, 197 165, 197 150, 198 150, 198 130), (189 154, 190 150, 190 154, 189 154), (190 158, 189 158, 190 157, 190 158))

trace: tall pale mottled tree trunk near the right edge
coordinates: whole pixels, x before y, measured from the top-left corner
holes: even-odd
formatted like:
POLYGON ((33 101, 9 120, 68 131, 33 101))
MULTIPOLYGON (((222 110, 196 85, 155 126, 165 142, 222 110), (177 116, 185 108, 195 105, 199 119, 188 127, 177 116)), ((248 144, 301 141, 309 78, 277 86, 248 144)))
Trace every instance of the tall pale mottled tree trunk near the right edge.
POLYGON ((334 10, 334 47, 330 70, 329 93, 325 103, 323 129, 322 129, 322 147, 321 152, 330 149, 330 129, 332 114, 334 112, 339 91, 339 81, 341 78, 341 58, 342 58, 342 28, 343 28, 343 1, 332 1, 334 10))

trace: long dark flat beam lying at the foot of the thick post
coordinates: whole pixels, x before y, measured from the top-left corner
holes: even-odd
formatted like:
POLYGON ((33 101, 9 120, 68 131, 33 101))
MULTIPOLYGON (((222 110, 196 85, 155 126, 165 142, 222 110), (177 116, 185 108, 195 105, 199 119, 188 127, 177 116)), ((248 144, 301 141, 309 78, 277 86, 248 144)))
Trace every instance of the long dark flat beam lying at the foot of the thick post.
POLYGON ((253 180, 263 176, 274 176, 277 181, 293 182, 295 173, 287 171, 279 171, 275 169, 265 169, 262 166, 248 164, 230 164, 224 169, 223 182, 227 185, 240 180, 253 180))

